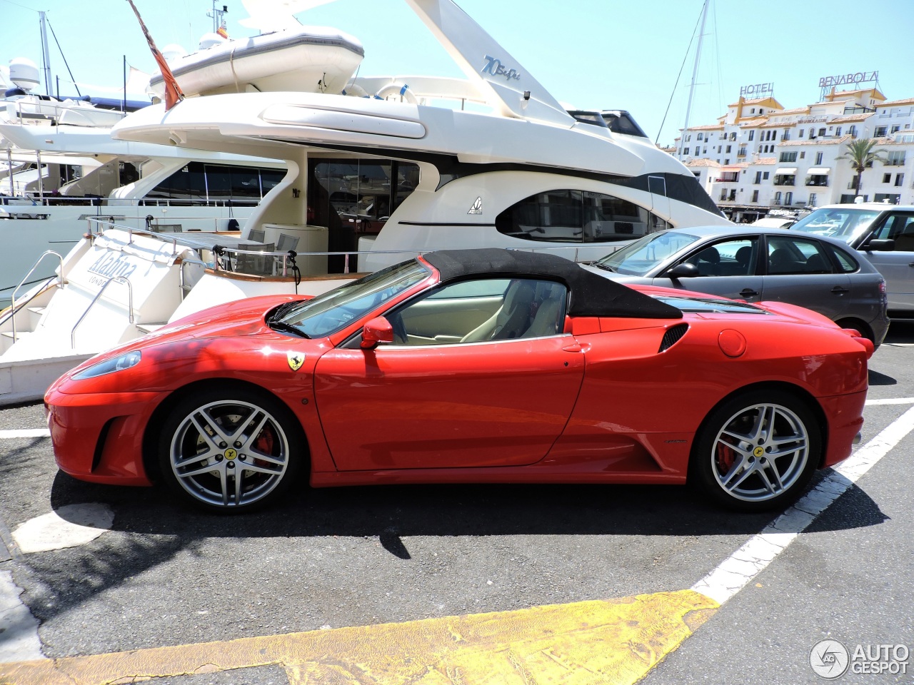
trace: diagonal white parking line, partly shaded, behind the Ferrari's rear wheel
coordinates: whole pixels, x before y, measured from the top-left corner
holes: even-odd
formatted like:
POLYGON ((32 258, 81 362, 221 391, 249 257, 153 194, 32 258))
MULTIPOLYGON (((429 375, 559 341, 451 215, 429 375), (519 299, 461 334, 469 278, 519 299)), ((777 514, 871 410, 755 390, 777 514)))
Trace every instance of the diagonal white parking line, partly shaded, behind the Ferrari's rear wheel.
POLYGON ((914 407, 889 424, 849 458, 842 461, 810 492, 758 535, 749 539, 692 589, 724 604, 787 549, 828 506, 873 468, 914 429, 914 407))

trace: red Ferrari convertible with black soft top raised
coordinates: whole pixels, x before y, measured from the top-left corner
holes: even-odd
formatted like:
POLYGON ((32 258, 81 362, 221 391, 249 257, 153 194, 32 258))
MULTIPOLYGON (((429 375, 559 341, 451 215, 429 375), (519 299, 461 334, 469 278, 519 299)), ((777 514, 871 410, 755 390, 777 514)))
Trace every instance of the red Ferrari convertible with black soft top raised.
POLYGON ((246 511, 304 477, 685 483, 795 499, 849 456, 871 342, 812 311, 630 288, 567 259, 432 252, 319 297, 223 304, 45 402, 60 469, 246 511))

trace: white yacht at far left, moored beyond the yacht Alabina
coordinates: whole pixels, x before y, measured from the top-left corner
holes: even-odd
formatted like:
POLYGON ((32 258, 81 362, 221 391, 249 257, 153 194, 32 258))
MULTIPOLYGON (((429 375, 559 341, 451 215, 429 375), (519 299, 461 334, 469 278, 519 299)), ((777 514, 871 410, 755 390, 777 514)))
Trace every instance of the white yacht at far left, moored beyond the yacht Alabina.
MULTIPOLYGON (((0 308, 43 252, 63 256, 80 241, 89 216, 159 230, 224 230, 285 174, 275 159, 114 141, 122 111, 32 94, 37 68, 30 76, 25 60, 14 62, 16 87, 0 100, 0 308)), ((30 281, 57 266, 44 260, 30 281)))

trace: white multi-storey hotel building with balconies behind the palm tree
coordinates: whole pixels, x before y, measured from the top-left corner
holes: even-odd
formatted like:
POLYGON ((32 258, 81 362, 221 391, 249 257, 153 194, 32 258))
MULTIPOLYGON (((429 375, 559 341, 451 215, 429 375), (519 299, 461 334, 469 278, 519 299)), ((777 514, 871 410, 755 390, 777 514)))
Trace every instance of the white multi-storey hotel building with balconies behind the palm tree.
POLYGON ((716 123, 682 132, 674 155, 737 222, 852 203, 857 195, 914 205, 914 98, 833 90, 822 102, 785 110, 773 97, 740 97, 716 123), (838 158, 861 138, 875 139, 886 159, 866 169, 857 191, 856 171, 838 158))

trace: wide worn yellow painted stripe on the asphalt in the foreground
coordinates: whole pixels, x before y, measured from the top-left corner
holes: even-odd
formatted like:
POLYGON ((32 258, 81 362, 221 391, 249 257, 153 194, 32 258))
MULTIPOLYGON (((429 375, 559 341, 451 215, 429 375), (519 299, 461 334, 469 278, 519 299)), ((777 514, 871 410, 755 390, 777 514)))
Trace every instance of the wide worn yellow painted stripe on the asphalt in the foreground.
POLYGON ((634 683, 711 617, 694 590, 408 623, 0 663, 0 683, 111 685, 280 665, 290 685, 634 683))

